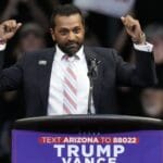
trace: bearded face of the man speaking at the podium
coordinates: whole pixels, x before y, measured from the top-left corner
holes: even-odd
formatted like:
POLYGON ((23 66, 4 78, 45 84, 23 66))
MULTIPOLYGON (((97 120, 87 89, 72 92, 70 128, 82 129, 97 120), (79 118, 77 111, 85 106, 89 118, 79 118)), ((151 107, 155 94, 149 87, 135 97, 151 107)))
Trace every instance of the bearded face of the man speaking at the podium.
POLYGON ((53 40, 65 54, 74 55, 82 47, 85 38, 85 26, 80 15, 57 15, 54 21, 55 27, 51 29, 53 40))

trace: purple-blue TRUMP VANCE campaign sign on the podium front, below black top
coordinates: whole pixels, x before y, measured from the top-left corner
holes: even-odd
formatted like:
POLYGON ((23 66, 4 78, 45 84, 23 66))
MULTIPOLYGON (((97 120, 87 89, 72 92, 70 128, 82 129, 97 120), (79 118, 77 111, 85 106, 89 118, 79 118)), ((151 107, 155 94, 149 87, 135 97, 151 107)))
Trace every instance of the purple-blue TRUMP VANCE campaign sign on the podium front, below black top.
POLYGON ((163 163, 163 131, 12 131, 12 163, 163 163))

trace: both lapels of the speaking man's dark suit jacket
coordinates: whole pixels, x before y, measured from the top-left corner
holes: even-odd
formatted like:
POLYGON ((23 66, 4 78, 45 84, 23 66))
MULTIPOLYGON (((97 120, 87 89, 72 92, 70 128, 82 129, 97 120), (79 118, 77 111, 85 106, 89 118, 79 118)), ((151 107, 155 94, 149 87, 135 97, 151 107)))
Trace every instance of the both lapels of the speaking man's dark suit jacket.
MULTIPOLYGON (((95 51, 92 51, 91 48, 85 47, 84 52, 86 54, 88 70, 90 67, 90 60, 92 58, 96 58, 98 61, 100 61, 99 55, 95 51)), ((46 51, 46 53, 41 53, 38 60, 38 74, 37 75, 38 75, 38 85, 39 85, 39 90, 40 90, 40 99, 41 99, 41 104, 43 109, 40 111, 41 112, 40 114, 42 115, 47 114, 50 76, 51 76, 51 68, 52 68, 54 53, 55 53, 55 49, 53 48, 49 50, 48 52, 46 51)), ((98 76, 97 78, 93 79, 92 98, 93 98, 96 111, 99 108, 101 79, 102 79, 102 74, 103 74, 101 64, 102 63, 100 63, 98 66, 98 76)))

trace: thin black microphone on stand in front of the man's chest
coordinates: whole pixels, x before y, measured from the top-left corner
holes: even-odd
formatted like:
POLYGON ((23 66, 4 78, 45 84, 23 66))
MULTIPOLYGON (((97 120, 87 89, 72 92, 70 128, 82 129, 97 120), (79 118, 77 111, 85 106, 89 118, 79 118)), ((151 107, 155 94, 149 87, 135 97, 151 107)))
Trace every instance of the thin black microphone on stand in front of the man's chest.
POLYGON ((89 86, 89 95, 88 95, 88 114, 92 114, 91 112, 91 97, 92 97, 92 90, 93 90, 93 79, 98 77, 98 65, 101 63, 101 61, 97 60, 96 58, 90 58, 88 65, 88 78, 90 82, 89 86))

